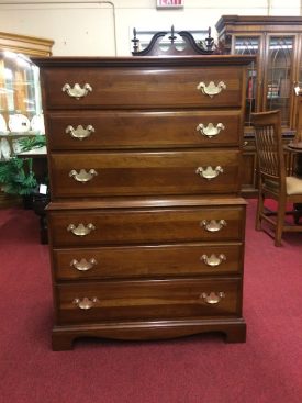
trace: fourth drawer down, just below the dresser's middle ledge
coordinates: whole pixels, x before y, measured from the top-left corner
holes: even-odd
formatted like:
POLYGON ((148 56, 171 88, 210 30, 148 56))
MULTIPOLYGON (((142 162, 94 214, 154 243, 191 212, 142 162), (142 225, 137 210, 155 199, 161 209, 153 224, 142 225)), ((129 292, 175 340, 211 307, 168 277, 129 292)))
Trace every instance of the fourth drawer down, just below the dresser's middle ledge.
POLYGON ((244 206, 51 212, 54 246, 241 240, 244 206))

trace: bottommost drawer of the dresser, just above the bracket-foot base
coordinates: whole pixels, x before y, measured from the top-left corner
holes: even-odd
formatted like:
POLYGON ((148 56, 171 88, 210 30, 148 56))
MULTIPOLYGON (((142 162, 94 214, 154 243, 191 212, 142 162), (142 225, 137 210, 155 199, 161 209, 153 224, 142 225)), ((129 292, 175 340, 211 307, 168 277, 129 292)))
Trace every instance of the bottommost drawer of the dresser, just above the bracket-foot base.
POLYGON ((241 314, 241 281, 150 280, 56 286, 58 324, 241 314))

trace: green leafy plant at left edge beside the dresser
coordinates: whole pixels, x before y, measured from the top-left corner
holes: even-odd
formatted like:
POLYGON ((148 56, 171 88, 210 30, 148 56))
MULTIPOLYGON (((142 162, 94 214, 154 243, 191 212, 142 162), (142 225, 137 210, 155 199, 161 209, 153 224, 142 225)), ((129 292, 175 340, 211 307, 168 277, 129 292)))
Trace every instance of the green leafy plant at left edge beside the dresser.
POLYGON ((0 183, 5 193, 32 194, 37 187, 32 158, 13 157, 0 161, 0 183))

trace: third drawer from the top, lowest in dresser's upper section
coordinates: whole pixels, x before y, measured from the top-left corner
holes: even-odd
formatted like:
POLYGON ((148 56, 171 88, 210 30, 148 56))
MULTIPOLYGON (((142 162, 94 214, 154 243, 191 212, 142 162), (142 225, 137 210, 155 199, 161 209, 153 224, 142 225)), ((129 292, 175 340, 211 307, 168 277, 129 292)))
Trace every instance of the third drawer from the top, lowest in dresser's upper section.
POLYGON ((53 154, 52 192, 54 198, 234 193, 239 157, 235 149, 53 154))

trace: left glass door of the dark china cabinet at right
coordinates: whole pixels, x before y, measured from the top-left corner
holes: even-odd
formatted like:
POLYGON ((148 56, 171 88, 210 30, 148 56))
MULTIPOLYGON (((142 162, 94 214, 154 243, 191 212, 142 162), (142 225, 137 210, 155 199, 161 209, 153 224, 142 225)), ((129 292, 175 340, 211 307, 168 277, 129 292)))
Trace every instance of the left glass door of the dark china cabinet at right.
POLYGON ((250 114, 259 111, 260 77, 261 77, 261 54, 264 49, 264 37, 261 35, 239 35, 234 36, 232 53, 236 55, 257 55, 257 60, 247 69, 246 85, 246 108, 245 126, 250 126, 250 114))

